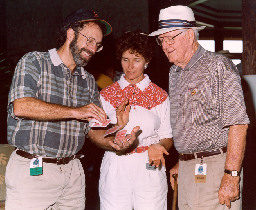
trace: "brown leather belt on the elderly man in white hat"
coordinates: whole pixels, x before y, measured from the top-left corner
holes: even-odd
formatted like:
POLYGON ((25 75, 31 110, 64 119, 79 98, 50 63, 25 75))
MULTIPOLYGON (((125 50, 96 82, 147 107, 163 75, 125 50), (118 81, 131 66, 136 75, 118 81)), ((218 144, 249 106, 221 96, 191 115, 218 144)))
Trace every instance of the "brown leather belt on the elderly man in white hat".
MULTIPOLYGON (((223 151, 223 153, 227 152, 227 147, 221 147, 221 150, 223 151)), ((190 153, 190 154, 183 154, 183 153, 179 153, 179 160, 181 161, 188 161, 188 160, 193 160, 195 159, 195 153, 190 153)), ((209 150, 209 151, 203 151, 203 152, 197 152, 196 156, 197 158, 200 158, 201 156, 203 157, 209 157, 209 156, 213 156, 213 155, 219 155, 221 154, 221 151, 219 150, 219 148, 214 149, 214 150, 209 150)))

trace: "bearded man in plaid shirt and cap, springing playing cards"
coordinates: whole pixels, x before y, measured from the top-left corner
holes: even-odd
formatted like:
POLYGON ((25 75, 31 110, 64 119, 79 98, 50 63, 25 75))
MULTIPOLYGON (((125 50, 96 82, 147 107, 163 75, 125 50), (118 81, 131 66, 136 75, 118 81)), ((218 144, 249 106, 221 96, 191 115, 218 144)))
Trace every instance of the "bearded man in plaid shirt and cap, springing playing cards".
MULTIPOLYGON (((84 209, 85 176, 77 152, 88 136, 98 146, 122 151, 135 140, 114 145, 91 118, 105 122, 93 76, 84 70, 102 49, 111 25, 78 9, 60 30, 60 48, 24 55, 15 69, 8 103, 8 143, 15 146, 6 168, 6 210, 84 209), (112 146, 113 147, 112 147, 112 146)), ((90 160, 89 160, 90 161, 90 160)))

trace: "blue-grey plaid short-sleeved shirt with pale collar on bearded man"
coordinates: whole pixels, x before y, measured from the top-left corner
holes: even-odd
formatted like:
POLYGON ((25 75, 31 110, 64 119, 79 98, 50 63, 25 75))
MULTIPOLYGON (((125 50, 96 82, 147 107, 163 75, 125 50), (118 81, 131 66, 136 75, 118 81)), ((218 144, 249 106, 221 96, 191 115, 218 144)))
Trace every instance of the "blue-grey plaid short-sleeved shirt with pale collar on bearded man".
POLYGON ((93 76, 82 67, 71 75, 56 49, 30 52, 15 69, 8 102, 8 143, 31 154, 67 157, 83 146, 90 127, 87 121, 63 120, 39 122, 14 115, 12 102, 34 97, 54 104, 80 107, 89 103, 101 106, 93 76))

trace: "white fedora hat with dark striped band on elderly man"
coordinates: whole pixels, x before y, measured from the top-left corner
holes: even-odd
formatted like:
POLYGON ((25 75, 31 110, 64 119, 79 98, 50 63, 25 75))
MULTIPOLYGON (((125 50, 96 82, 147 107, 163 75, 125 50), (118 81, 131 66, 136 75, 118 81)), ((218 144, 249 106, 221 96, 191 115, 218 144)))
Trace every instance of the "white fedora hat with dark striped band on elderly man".
POLYGON ((196 27, 193 11, 187 6, 170 6, 161 9, 158 18, 158 30, 149 34, 156 36, 177 29, 202 30, 206 26, 196 27))

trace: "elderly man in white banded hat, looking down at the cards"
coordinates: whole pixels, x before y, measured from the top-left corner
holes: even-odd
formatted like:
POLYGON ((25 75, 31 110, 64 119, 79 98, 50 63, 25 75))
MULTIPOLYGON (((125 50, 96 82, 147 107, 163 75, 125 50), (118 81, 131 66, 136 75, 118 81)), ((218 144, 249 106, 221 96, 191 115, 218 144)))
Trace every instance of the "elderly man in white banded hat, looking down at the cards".
POLYGON ((157 43, 174 65, 169 74, 171 125, 179 162, 179 209, 241 209, 242 160, 249 119, 240 76, 226 56, 199 43, 193 11, 160 11, 157 43), (237 199, 237 200, 236 200, 237 199), (230 202, 234 201, 234 202, 230 202), (226 204, 226 205, 221 205, 226 204))

